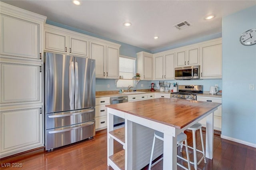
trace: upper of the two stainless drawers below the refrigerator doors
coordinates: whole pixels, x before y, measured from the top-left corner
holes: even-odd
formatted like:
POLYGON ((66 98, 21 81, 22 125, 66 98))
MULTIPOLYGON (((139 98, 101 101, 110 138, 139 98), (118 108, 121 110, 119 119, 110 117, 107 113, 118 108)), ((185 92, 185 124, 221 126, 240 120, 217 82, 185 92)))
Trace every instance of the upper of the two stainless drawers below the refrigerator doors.
POLYGON ((95 108, 46 114, 46 129, 95 120, 95 108))

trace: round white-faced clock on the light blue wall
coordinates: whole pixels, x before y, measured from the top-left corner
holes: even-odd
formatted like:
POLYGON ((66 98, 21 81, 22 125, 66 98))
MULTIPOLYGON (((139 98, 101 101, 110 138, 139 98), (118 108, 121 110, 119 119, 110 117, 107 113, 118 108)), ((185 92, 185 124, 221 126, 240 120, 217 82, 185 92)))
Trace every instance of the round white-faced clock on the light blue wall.
POLYGON ((256 28, 244 32, 240 36, 240 43, 242 43, 243 45, 256 44, 256 28))

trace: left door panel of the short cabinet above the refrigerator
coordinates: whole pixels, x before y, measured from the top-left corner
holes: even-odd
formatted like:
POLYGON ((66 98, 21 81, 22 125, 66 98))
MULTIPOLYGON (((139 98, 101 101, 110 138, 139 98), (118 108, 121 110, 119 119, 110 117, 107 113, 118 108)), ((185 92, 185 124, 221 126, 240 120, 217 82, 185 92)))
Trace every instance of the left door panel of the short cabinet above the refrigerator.
POLYGON ((66 53, 66 36, 61 34, 56 34, 52 32, 45 32, 45 45, 44 49, 46 51, 66 53))

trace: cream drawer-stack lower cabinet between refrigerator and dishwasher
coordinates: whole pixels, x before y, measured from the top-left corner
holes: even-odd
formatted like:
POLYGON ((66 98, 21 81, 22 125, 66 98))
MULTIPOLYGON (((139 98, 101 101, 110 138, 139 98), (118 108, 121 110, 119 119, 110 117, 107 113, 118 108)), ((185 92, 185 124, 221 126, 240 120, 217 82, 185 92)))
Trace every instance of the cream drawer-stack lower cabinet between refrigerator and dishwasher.
POLYGON ((107 108, 110 104, 110 97, 97 97, 95 106, 95 129, 96 131, 107 128, 107 108))

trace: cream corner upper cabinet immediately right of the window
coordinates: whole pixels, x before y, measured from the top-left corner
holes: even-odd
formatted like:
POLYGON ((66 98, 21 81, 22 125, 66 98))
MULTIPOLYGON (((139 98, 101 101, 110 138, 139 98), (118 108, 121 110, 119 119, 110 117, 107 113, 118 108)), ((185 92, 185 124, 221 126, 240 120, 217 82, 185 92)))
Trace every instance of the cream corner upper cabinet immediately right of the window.
POLYGON ((141 80, 153 79, 153 54, 144 51, 137 53, 137 72, 141 80))

